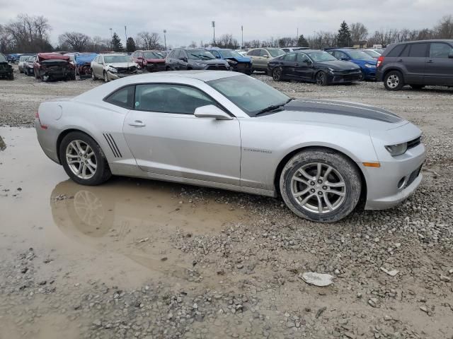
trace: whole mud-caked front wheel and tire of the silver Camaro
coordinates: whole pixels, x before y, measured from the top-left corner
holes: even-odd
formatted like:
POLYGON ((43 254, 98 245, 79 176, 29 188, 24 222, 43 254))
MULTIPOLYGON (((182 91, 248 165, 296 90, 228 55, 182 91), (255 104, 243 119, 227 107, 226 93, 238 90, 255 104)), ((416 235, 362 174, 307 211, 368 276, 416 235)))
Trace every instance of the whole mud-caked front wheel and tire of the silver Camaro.
MULTIPOLYGON (((311 174, 314 173, 311 172, 311 174)), ((326 148, 303 150, 302 152, 297 153, 287 162, 280 175, 280 193, 288 208, 296 215, 299 215, 299 217, 316 222, 336 222, 345 218, 352 210, 354 210, 355 206, 357 206, 361 191, 362 181, 360 179, 359 169, 357 169, 356 165, 349 160, 348 157, 326 148), (304 179, 308 184, 292 180, 296 174, 299 175, 299 169, 305 167, 308 171, 313 166, 314 168, 317 168, 316 165, 318 163, 322 164, 321 175, 319 176, 322 183, 316 181, 312 182, 312 179, 308 180, 306 177, 302 176, 300 178, 304 179), (323 175, 326 174, 328 166, 333 169, 328 174, 328 177, 324 179, 323 175), (326 182, 330 182, 331 184, 336 183, 336 178, 340 178, 338 182, 343 182, 344 188, 325 186, 326 182), (296 185, 295 188, 294 185, 296 185), (299 189, 301 191, 309 189, 309 191, 306 192, 306 196, 300 196, 300 198, 304 200, 308 198, 304 203, 305 207, 301 206, 301 203, 304 202, 304 200, 297 201, 297 198, 293 196, 292 191, 294 189, 297 189, 298 193, 300 193, 299 189), (338 190, 340 190, 340 194, 344 194, 344 196, 330 193, 338 190), (323 194, 326 194, 327 201, 333 206, 332 210, 328 208, 326 198, 323 194), (322 213, 319 213, 319 210, 315 212, 313 208, 309 208, 312 201, 318 206, 319 201, 321 201, 322 213)))

